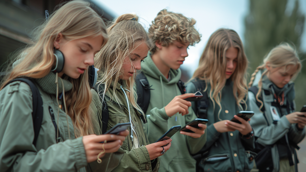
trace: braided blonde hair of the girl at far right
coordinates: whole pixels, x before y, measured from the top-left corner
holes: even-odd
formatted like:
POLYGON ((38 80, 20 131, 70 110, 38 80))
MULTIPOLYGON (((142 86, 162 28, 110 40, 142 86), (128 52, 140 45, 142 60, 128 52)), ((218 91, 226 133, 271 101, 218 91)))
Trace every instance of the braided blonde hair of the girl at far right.
POLYGON ((297 51, 292 46, 290 46, 288 43, 281 43, 278 46, 274 47, 263 59, 263 64, 256 67, 256 70, 251 75, 251 80, 248 84, 248 86, 251 87, 257 72, 260 70, 264 70, 259 79, 258 82, 259 89, 256 94, 256 100, 261 103, 259 109, 263 107, 263 102, 259 100, 258 97, 262 91, 262 86, 263 86, 262 78, 268 72, 268 70, 266 69, 267 63, 269 63, 270 67, 275 69, 284 66, 285 68, 287 68, 288 65, 296 65, 297 72, 293 75, 291 80, 294 80, 296 78, 297 74, 300 72, 302 68, 302 63, 300 61, 299 56, 297 55, 297 51))

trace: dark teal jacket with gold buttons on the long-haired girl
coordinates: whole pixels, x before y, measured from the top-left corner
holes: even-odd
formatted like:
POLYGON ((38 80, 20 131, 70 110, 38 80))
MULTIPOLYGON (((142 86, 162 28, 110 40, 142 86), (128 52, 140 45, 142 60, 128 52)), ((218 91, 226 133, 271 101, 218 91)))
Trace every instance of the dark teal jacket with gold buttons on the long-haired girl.
MULTIPOLYGON (((209 93, 210 89, 211 85, 207 83, 207 92, 203 92, 202 94, 209 93)), ((192 82, 188 82, 186 85, 186 93, 195 93, 196 91, 196 86, 192 82)), ((206 129, 207 142, 201 150, 201 152, 207 152, 207 154, 201 159, 200 163, 198 164, 198 167, 201 168, 201 170, 203 171, 250 171, 253 167, 253 161, 249 162, 248 150, 252 150, 255 147, 255 137, 252 137, 250 139, 242 138, 239 135, 239 131, 237 130, 234 132, 217 132, 213 124, 219 121, 218 112, 220 108, 216 104, 214 109, 209 94, 208 99, 208 123, 206 129), (209 160, 212 160, 211 158, 218 156, 227 158, 209 162, 209 160)), ((222 106, 222 110, 219 116, 221 120, 230 120, 233 118, 234 115, 241 111, 238 108, 238 105, 236 104, 236 100, 233 95, 233 82, 231 82, 231 80, 229 79, 227 80, 226 85, 222 89, 222 97, 220 103, 222 106)), ((194 108, 195 111, 197 110, 196 102, 192 102, 192 108, 194 108)))

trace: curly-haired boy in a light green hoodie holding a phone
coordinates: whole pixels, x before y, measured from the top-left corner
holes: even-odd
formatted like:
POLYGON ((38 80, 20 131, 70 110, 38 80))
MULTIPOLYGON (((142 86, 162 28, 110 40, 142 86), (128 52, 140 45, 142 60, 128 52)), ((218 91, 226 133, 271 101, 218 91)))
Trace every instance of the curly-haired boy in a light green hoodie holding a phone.
MULTIPOLYGON (((141 68, 151 86, 145 112, 145 128, 150 143, 156 142, 171 127, 183 127, 196 118, 188 108, 191 103, 183 100, 194 94, 181 95, 177 85, 181 78, 179 67, 188 56, 188 46, 200 41, 195 23, 194 19, 182 14, 161 10, 149 28, 149 36, 155 44, 141 68)), ((161 157, 160 171, 196 170, 196 161, 191 154, 199 151, 206 141, 206 125, 199 124, 199 127, 187 126, 193 133, 181 131, 171 137, 173 147, 161 157)))

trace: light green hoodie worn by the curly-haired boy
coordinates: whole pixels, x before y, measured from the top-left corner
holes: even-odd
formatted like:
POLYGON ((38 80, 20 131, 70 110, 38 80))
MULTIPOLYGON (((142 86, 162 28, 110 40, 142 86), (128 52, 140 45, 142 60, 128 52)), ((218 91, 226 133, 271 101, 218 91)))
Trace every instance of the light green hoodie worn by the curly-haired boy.
MULTIPOLYGON (((165 106, 181 92, 177 82, 181 78, 181 70, 170 70, 171 80, 168 81, 159 69, 155 66, 151 57, 141 63, 142 71, 147 77, 151 86, 150 102, 146 112, 147 123, 145 129, 150 143, 155 143, 165 132, 175 125, 185 126, 188 122, 196 118, 195 113, 190 107, 189 113, 182 116, 179 113, 168 117, 165 106)), ((196 161, 191 154, 195 154, 203 147, 206 142, 206 132, 200 138, 192 138, 177 132, 171 137, 170 149, 161 156, 160 171, 169 172, 195 172, 196 161)))

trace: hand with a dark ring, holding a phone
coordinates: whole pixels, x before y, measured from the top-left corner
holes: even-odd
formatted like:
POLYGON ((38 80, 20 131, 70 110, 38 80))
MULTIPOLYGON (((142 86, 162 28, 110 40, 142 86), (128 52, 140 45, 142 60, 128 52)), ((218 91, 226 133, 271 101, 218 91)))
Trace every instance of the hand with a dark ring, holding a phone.
POLYGON ((162 140, 157 143, 151 143, 146 145, 146 148, 150 155, 150 160, 153 160, 159 156, 162 156, 162 151, 165 149, 165 152, 170 149, 172 139, 162 140), (166 146, 164 146, 166 145, 166 146), (164 149, 162 149, 162 146, 164 146, 164 149))

